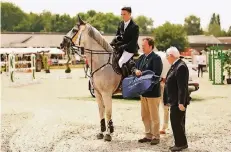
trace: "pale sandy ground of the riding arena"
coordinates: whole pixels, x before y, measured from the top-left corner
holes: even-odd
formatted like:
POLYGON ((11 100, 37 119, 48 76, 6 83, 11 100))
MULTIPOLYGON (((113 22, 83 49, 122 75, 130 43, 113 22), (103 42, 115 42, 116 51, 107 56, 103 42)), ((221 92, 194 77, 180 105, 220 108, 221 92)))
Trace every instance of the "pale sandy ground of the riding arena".
MULTIPOLYGON (((139 144, 144 132, 139 100, 118 98, 113 99, 112 142, 97 140, 98 107, 83 69, 73 70, 69 77, 64 70, 36 74, 37 83, 24 86, 12 85, 6 74, 1 75, 2 152, 164 152, 173 145, 170 125, 159 145, 139 144)), ((17 81, 26 75, 18 74, 17 81)), ((205 74, 192 97, 185 151, 231 151, 231 86, 212 85, 205 74)), ((160 116, 162 120, 161 108, 160 116)))

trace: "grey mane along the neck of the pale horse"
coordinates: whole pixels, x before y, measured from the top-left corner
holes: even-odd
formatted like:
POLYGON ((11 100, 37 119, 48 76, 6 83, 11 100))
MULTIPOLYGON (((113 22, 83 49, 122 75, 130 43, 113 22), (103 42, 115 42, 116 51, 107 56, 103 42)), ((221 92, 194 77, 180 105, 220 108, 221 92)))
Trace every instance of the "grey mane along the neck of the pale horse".
POLYGON ((113 48, 111 45, 103 38, 98 30, 92 27, 90 24, 88 26, 88 35, 93 38, 99 45, 101 45, 106 51, 112 52, 113 48))

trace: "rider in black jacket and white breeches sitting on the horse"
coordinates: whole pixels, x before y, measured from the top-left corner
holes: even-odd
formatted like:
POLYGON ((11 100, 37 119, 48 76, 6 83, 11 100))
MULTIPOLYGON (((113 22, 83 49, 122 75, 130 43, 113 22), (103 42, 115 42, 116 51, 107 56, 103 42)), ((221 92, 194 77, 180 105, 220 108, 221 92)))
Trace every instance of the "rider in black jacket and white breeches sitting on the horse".
POLYGON ((123 21, 119 23, 116 37, 111 43, 112 45, 118 46, 118 51, 121 51, 121 53, 123 52, 119 59, 119 66, 122 69, 123 76, 127 70, 125 63, 127 63, 139 49, 137 43, 139 38, 139 26, 132 20, 131 13, 131 7, 123 7, 121 9, 123 21))

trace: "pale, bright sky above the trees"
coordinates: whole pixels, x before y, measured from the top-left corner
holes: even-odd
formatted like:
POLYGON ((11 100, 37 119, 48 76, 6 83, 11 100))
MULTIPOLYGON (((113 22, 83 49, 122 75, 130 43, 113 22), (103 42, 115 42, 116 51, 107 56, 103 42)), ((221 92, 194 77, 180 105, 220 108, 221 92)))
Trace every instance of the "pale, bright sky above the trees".
POLYGON ((221 26, 231 26, 231 0, 1 0, 13 2, 25 12, 76 15, 94 9, 101 12, 113 12, 120 15, 123 6, 131 6, 133 16, 145 15, 154 20, 154 26, 166 21, 184 23, 184 18, 194 14, 201 18, 203 29, 207 28, 212 13, 219 13, 221 26))

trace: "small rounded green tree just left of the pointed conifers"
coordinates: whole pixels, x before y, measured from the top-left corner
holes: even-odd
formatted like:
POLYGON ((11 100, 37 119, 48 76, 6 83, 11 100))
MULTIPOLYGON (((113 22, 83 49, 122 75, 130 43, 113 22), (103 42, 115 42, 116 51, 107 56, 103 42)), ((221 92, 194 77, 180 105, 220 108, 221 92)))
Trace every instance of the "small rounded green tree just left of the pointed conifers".
POLYGON ((191 15, 184 20, 184 27, 188 35, 200 35, 203 33, 201 29, 201 21, 199 17, 191 15))

